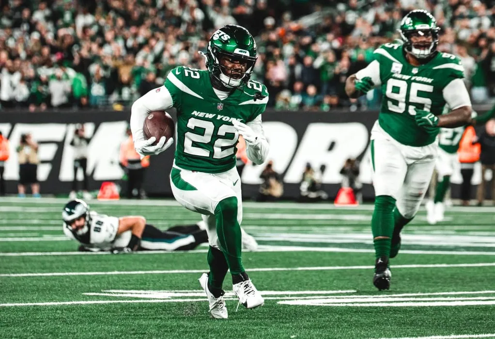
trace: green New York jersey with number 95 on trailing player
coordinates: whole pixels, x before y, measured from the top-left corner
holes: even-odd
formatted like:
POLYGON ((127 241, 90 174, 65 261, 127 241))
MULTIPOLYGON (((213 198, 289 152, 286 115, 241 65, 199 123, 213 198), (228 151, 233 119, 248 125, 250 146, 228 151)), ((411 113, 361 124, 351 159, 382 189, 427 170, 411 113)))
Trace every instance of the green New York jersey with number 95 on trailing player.
POLYGON ((404 145, 433 143, 439 129, 426 131, 419 127, 414 119, 415 109, 442 114, 446 105, 444 88, 452 80, 464 77, 461 60, 448 53, 437 53, 427 63, 413 66, 398 44, 385 44, 374 54, 380 64, 383 92, 380 126, 404 145))

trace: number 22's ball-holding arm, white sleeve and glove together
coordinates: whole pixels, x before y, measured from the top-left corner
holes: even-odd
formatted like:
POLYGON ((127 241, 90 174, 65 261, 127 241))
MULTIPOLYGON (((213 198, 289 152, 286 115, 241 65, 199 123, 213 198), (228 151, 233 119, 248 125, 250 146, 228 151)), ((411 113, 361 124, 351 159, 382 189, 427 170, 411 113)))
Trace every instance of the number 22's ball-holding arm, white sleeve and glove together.
POLYGON ((164 111, 173 106, 172 96, 165 86, 152 89, 134 102, 131 108, 131 131, 136 152, 143 156, 154 155, 165 151, 173 143, 173 138, 165 140, 162 137, 158 144, 152 146, 155 138, 148 140, 143 132, 146 117, 153 111, 164 111))

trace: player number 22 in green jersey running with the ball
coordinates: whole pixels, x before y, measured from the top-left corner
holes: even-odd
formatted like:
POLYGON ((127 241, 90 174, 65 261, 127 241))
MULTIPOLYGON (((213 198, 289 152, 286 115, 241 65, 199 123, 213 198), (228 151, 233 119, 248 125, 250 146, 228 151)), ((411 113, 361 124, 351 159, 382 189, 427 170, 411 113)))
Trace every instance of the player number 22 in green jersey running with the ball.
MULTIPOLYGON (((204 54, 203 54, 204 55, 204 54)), ((247 157, 262 164, 268 142, 261 127, 261 113, 268 102, 266 87, 249 80, 256 62, 256 43, 236 25, 217 30, 208 42, 207 70, 176 67, 165 84, 149 91, 132 106, 131 129, 136 151, 158 154, 170 140, 146 140, 143 122, 149 112, 177 110, 177 147, 170 173, 175 199, 200 213, 208 231, 209 273, 199 282, 205 290, 214 318, 226 319, 222 284, 230 270, 234 293, 247 308, 264 300, 247 276, 241 258, 243 216, 241 182, 236 169, 239 135, 246 140, 247 157)))

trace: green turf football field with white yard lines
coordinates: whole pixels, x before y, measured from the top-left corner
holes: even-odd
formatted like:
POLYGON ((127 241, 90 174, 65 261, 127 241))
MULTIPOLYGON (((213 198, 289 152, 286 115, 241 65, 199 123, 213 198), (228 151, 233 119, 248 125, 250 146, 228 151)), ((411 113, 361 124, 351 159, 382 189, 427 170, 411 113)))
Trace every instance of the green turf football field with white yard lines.
MULTIPOLYGON (((76 252, 61 228, 63 199, 0 200, 1 338, 489 338, 495 337, 495 208, 421 210, 391 260, 392 285, 372 283, 372 206, 246 203, 260 244, 243 260, 265 297, 212 319, 198 278, 206 246, 126 255, 76 252)), ((160 228, 196 223, 170 200, 91 202, 144 215, 160 228)))

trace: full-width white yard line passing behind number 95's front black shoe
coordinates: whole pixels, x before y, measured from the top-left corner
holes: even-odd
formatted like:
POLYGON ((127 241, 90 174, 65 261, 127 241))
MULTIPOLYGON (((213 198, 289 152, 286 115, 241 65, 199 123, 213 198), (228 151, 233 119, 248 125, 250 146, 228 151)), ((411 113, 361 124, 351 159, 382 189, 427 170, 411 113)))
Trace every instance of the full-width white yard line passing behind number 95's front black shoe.
MULTIPOLYGON (((495 267, 495 263, 475 264, 414 264, 396 265, 394 270, 401 268, 452 268, 452 267, 495 267)), ((370 270, 373 266, 322 266, 322 267, 272 267, 252 268, 249 272, 285 272, 285 271, 333 271, 333 270, 370 270)), ((66 276, 103 276, 103 275, 141 275, 141 274, 184 274, 202 273, 200 270, 156 270, 156 271, 108 271, 108 272, 50 272, 50 273, 6 273, 0 277, 66 277, 66 276)))

